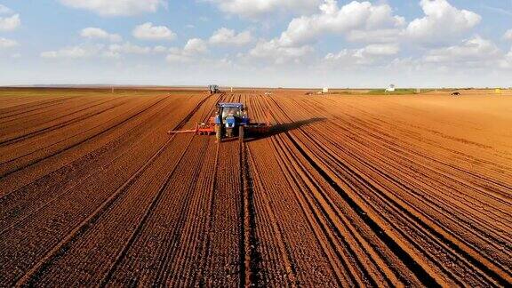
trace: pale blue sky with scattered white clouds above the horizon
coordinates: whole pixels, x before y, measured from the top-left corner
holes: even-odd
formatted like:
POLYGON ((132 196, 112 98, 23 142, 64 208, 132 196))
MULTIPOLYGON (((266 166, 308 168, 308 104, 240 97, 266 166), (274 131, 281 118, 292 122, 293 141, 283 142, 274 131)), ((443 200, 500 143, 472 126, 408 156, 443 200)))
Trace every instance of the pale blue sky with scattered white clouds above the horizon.
POLYGON ((510 87, 512 0, 0 0, 0 85, 510 87))

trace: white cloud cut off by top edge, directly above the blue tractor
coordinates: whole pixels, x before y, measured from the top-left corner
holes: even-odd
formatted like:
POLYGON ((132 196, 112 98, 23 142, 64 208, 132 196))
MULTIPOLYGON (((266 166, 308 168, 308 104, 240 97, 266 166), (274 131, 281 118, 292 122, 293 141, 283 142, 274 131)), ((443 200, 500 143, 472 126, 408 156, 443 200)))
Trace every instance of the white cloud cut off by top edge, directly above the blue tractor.
POLYGON ((222 12, 241 17, 259 17, 273 12, 308 12, 321 0, 206 0, 217 4, 222 12))

